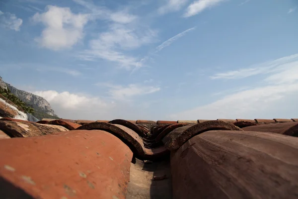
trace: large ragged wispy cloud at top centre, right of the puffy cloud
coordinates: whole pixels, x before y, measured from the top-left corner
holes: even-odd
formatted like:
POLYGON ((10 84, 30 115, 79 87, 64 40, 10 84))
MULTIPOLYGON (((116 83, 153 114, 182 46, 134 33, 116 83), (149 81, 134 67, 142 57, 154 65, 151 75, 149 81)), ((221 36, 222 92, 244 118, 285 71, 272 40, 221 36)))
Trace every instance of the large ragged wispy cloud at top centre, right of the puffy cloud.
POLYGON ((133 56, 131 50, 156 41, 156 30, 146 27, 137 20, 139 17, 129 13, 128 7, 112 11, 91 1, 74 0, 74 2, 85 7, 91 19, 108 22, 107 31, 99 33, 97 38, 89 41, 89 48, 79 53, 80 59, 87 61, 103 59, 127 70, 140 65, 140 58, 133 56))

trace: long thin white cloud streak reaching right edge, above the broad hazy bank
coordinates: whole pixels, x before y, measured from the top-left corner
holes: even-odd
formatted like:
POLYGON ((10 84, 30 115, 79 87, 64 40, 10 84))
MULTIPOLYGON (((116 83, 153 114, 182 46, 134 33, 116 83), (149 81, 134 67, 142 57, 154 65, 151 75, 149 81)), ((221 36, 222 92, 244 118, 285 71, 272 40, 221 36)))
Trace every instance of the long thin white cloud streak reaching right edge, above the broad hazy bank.
POLYGON ((224 73, 217 73, 211 76, 211 79, 242 79, 253 75, 273 73, 276 70, 283 69, 284 64, 292 63, 297 60, 298 54, 295 54, 274 61, 254 65, 248 68, 238 69, 235 71, 228 71, 224 73))

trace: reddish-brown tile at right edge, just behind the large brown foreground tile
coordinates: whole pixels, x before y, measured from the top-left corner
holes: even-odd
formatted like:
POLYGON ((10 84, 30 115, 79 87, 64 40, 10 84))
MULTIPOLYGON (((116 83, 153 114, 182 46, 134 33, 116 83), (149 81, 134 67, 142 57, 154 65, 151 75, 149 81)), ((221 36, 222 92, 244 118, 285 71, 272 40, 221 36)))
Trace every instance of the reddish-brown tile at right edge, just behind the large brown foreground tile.
POLYGON ((272 132, 283 135, 298 136, 298 122, 285 122, 257 126, 248 126, 242 128, 244 131, 262 131, 272 132))

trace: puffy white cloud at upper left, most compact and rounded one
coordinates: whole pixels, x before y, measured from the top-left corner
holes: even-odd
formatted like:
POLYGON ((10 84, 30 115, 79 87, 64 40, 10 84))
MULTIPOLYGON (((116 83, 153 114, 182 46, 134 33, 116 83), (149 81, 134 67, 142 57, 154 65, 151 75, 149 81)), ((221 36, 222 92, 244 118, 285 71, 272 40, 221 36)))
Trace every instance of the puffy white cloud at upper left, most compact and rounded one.
POLYGON ((70 48, 83 37, 87 14, 74 14, 69 7, 48 5, 44 13, 36 13, 32 19, 42 22, 46 28, 36 41, 45 48, 61 50, 70 48))

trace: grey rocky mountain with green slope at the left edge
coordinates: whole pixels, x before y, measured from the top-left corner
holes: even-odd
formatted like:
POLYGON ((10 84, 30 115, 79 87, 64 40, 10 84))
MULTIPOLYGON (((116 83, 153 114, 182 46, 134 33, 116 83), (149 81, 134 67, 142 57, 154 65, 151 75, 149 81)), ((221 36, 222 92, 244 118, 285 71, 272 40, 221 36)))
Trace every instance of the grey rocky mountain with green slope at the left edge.
POLYGON ((45 100, 44 98, 40 96, 36 96, 32 93, 18 90, 15 87, 11 86, 10 84, 7 84, 2 81, 0 77, 0 87, 3 89, 9 89, 10 92, 18 97, 20 100, 25 102, 28 106, 34 108, 33 116, 35 116, 38 119, 42 118, 59 118, 54 110, 52 109, 50 103, 45 100), (6 88, 5 88, 6 86, 6 88))

